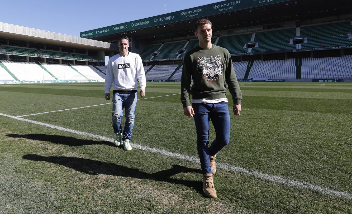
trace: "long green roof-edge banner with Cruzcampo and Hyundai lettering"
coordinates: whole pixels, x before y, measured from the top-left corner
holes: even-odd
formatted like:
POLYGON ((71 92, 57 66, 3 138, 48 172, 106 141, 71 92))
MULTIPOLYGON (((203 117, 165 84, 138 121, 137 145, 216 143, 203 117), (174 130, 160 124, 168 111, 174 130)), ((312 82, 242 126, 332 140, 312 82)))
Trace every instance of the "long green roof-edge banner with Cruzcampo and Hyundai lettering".
POLYGON ((92 38, 96 36, 109 35, 112 33, 119 33, 124 31, 131 31, 142 29, 145 27, 158 26, 163 24, 170 24, 175 22, 181 22, 194 18, 201 18, 212 16, 220 13, 232 12, 243 10, 252 7, 259 7, 269 4, 275 4, 278 2, 284 2, 289 0, 239 0, 239 1, 220 1, 213 4, 203 5, 199 7, 193 7, 186 10, 176 11, 172 13, 166 13, 159 16, 153 16, 145 19, 139 19, 136 21, 125 22, 117 25, 111 25, 107 27, 101 27, 95 30, 88 30, 80 33, 82 38, 92 38))

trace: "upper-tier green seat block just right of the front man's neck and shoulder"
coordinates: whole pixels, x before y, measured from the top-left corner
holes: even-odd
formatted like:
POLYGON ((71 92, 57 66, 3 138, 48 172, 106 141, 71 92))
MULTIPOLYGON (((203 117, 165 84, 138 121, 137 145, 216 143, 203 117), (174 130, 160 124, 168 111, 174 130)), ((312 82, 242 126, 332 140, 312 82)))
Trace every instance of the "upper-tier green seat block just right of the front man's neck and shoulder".
POLYGON ((230 54, 247 53, 245 44, 251 40, 252 33, 220 37, 218 46, 226 48, 230 54))

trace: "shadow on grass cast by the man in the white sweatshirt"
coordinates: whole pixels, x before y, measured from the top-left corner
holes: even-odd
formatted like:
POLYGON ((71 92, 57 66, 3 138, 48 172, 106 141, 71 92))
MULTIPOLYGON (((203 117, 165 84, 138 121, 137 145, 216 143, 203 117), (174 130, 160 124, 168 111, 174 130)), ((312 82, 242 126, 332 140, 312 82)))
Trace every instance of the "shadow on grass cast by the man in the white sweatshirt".
POLYGON ((75 137, 67 137, 60 135, 47 135, 47 134, 8 134, 8 137, 25 138, 30 140, 49 141, 52 143, 67 145, 67 146, 84 146, 84 145, 107 145, 114 146, 112 142, 108 141, 94 141, 82 140, 75 137))

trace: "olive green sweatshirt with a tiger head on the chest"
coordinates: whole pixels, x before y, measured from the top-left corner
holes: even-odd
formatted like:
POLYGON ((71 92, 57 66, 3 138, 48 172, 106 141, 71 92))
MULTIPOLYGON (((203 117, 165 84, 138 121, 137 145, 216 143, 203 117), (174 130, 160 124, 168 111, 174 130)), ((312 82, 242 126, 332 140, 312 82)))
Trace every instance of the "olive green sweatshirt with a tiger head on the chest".
POLYGON ((210 49, 198 46, 188 51, 184 56, 181 78, 183 108, 190 105, 189 94, 192 99, 226 98, 225 78, 233 104, 241 104, 242 93, 228 50, 213 44, 210 49))

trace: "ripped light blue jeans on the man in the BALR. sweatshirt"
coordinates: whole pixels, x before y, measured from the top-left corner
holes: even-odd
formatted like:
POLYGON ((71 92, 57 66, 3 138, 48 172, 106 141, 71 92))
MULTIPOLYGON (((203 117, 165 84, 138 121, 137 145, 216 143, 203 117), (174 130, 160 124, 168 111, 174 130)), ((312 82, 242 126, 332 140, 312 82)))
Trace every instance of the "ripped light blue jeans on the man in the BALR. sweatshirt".
POLYGON ((126 123, 123 131, 122 140, 131 140, 134 125, 134 110, 136 109, 137 92, 130 94, 114 93, 112 99, 112 127, 115 133, 122 132, 121 117, 122 110, 125 108, 126 123))

